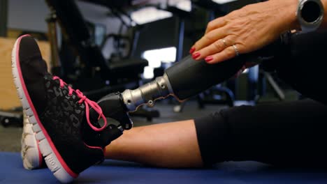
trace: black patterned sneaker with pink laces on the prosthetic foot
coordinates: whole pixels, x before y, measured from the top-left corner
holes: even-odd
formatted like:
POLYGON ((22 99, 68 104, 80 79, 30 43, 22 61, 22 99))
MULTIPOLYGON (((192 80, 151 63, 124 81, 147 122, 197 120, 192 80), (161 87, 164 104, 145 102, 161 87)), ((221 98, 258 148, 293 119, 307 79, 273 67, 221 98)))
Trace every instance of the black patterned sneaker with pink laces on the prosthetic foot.
MULTIPOLYGON (((83 139, 84 130, 92 130, 87 134, 96 135, 108 128, 101 108, 59 77, 48 73, 34 38, 25 35, 17 39, 12 52, 12 67, 22 107, 33 125, 45 163, 54 176, 62 183, 68 183, 81 171, 103 161, 106 145, 88 144, 83 139), (95 118, 89 116, 90 108, 97 112, 95 118), (102 128, 93 123, 99 118, 105 122, 102 128)), ((95 138, 91 140, 96 142, 95 138)))

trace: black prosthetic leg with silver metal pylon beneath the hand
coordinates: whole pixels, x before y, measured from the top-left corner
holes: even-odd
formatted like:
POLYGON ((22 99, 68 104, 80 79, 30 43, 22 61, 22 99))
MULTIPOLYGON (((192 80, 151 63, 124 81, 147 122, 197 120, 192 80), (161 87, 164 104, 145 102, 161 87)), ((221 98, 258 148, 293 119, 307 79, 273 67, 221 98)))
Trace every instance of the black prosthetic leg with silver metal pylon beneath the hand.
MULTIPOLYGON (((279 67, 293 65, 294 62, 302 62, 301 59, 303 60, 302 63, 305 63, 307 57, 303 56, 306 56, 307 52, 303 52, 304 49, 309 50, 309 53, 314 55, 316 54, 314 52, 315 49, 321 48, 321 45, 327 45, 326 41, 321 38, 326 38, 326 33, 321 36, 285 33, 275 43, 263 47, 256 52, 241 54, 229 61, 213 65, 205 61, 195 61, 191 56, 187 56, 182 61, 168 68, 163 76, 157 77, 154 81, 140 86, 138 89, 127 89, 122 93, 111 93, 101 98, 98 103, 105 116, 114 118, 119 122, 119 125, 116 127, 116 129, 120 130, 117 131, 119 135, 112 135, 112 138, 115 139, 122 135, 124 130, 132 128, 133 123, 128 113, 136 111, 141 105, 153 106, 155 100, 166 98, 169 95, 173 95, 180 101, 186 100, 201 91, 205 91, 212 85, 229 79, 247 61, 263 63, 263 66, 265 63, 272 66, 278 63, 279 67), (310 40, 310 42, 307 42, 307 40, 310 40), (320 45, 317 43, 320 43, 320 45), (279 63, 284 58, 287 59, 287 61, 283 61, 286 63, 279 63), (294 61, 295 59, 296 61, 294 61)), ((298 72, 301 73, 303 71, 298 72)))

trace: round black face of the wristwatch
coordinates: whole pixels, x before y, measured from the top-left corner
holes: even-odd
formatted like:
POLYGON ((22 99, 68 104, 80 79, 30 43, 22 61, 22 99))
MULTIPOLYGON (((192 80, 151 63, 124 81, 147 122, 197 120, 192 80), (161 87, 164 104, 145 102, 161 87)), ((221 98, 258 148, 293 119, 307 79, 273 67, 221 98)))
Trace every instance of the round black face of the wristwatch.
POLYGON ((303 3, 301 17, 305 22, 313 23, 321 17, 321 6, 317 1, 306 1, 303 3))

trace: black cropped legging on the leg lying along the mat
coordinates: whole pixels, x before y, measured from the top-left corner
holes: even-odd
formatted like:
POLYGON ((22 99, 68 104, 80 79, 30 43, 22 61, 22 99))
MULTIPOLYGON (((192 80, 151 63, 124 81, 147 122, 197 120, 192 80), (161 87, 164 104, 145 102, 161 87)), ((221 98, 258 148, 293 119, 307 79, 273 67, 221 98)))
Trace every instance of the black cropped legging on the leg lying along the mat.
POLYGON ((327 165, 327 107, 313 100, 224 109, 195 119, 203 162, 327 165))

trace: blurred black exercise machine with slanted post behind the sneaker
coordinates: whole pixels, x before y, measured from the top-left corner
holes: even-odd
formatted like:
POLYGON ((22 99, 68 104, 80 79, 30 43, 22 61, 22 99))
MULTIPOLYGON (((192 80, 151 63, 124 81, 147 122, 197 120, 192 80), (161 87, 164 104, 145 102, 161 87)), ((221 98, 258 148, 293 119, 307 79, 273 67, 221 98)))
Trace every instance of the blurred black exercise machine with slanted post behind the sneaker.
MULTIPOLYGON (((74 73, 67 73, 66 66, 67 63, 70 66, 73 66, 72 63, 75 63, 73 59, 71 61, 64 61, 61 59, 61 62, 52 61, 52 63, 61 64, 61 78, 65 79, 68 83, 73 84, 77 88, 85 91, 85 94, 88 95, 90 91, 89 98, 96 99, 100 98, 102 93, 96 95, 94 93, 94 87, 91 84, 99 83, 99 87, 96 88, 96 91, 99 92, 99 89, 102 91, 111 91, 111 86, 115 89, 115 85, 119 84, 129 84, 137 83, 140 79, 139 75, 143 72, 143 68, 147 66, 147 61, 145 59, 125 59, 124 61, 119 62, 110 62, 106 60, 101 52, 101 49, 96 43, 89 31, 89 26, 87 22, 82 17, 78 6, 75 1, 55 1, 55 0, 46 0, 50 8, 50 19, 48 19, 48 27, 50 28, 50 36, 53 36, 50 39, 52 43, 52 53, 54 56, 58 55, 58 45, 56 45, 56 36, 55 36, 55 27, 52 25, 53 22, 59 22, 61 27, 61 32, 63 33, 63 40, 68 45, 71 45, 73 51, 76 52, 80 59, 78 67, 75 67, 73 70, 74 73), (76 70, 78 72, 76 72, 76 70), (78 74, 76 74, 78 73, 78 74), (76 75, 75 78, 71 79, 68 75, 76 75), (93 78, 94 82, 86 82, 88 85, 84 85, 85 80, 93 78), (84 82, 80 79, 85 79, 84 82), (99 81, 99 82, 98 82, 99 81), (110 83, 110 86, 108 86, 110 83), (90 86, 88 88, 88 86, 90 86), (96 95, 96 96, 94 96, 96 95)), ((56 60, 56 59, 53 59, 56 60)), ((56 65, 57 67, 58 65, 56 65)), ((122 85, 123 86, 123 85, 122 85)), ((119 86, 120 89, 121 86, 119 86)))

